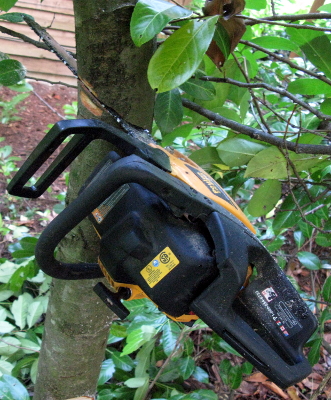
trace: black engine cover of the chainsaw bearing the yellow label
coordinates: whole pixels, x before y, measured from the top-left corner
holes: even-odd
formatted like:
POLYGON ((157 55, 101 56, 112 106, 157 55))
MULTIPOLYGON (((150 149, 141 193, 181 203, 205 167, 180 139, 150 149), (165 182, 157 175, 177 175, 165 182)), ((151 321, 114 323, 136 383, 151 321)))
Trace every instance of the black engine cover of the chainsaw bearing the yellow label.
POLYGON ((173 317, 188 313, 189 304, 218 275, 212 240, 201 222, 176 218, 138 184, 122 186, 91 220, 101 237, 100 263, 111 278, 138 285, 173 317))

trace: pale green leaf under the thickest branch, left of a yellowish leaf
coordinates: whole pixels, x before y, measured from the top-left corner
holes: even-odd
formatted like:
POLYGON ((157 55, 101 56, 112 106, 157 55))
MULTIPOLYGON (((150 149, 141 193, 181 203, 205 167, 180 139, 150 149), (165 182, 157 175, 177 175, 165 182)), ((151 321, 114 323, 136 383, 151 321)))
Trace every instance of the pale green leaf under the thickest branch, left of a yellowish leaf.
POLYGON ((226 165, 236 167, 247 164, 255 154, 264 149, 262 144, 234 137, 223 140, 218 145, 217 152, 226 165))

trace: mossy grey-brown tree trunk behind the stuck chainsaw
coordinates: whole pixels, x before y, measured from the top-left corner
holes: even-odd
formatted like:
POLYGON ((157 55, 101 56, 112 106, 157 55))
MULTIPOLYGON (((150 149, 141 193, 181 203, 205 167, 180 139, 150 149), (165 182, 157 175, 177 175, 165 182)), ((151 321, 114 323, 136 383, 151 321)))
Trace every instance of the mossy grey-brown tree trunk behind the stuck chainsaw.
MULTIPOLYGON (((97 96, 129 122, 151 128, 154 93, 147 82, 153 43, 136 48, 130 17, 136 1, 74 0, 80 77, 97 96)), ((94 109, 79 90, 79 114, 114 123, 94 109)), ((73 163, 67 201, 71 202, 109 145, 92 143, 73 163)), ((98 239, 83 221, 61 242, 65 262, 95 262, 98 239)), ((53 281, 35 386, 35 400, 94 398, 113 315, 92 291, 96 281, 53 281)))

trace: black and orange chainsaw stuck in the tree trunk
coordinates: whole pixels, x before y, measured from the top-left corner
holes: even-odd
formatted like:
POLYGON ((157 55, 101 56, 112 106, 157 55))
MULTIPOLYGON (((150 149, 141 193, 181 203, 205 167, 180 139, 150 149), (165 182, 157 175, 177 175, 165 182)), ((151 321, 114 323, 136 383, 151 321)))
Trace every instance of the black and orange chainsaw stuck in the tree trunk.
POLYGON ((43 231, 36 260, 59 279, 105 276, 94 290, 124 319, 122 300, 148 298, 174 321, 204 321, 281 388, 311 367, 303 346, 317 322, 284 272, 220 185, 189 158, 130 136, 99 120, 53 126, 8 186, 39 197, 93 140, 110 152, 43 231), (73 135, 32 186, 29 179, 73 135), (85 217, 100 237, 98 263, 63 263, 59 242, 85 217))

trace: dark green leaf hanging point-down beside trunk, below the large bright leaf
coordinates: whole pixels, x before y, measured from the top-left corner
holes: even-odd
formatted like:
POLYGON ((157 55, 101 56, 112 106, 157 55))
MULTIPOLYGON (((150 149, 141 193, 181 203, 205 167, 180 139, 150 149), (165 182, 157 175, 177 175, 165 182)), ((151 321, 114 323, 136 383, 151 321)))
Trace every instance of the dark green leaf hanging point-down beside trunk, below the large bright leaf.
POLYGON ((154 117, 162 133, 169 133, 183 119, 182 97, 178 88, 158 93, 155 101, 154 117))

